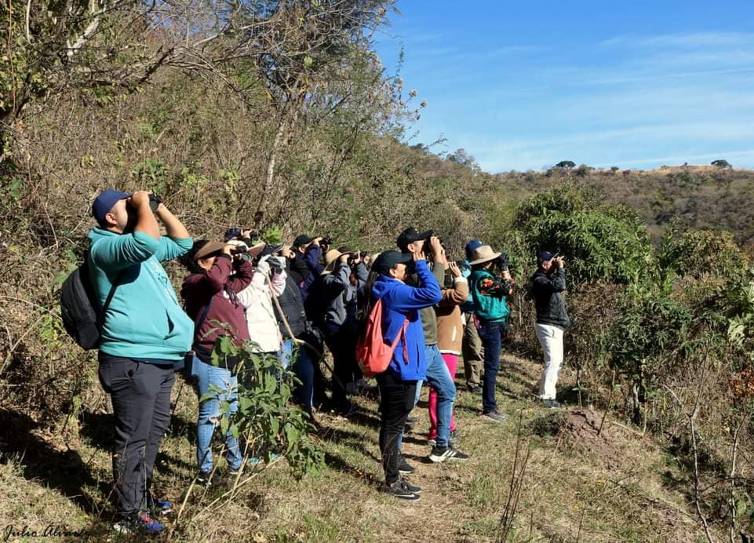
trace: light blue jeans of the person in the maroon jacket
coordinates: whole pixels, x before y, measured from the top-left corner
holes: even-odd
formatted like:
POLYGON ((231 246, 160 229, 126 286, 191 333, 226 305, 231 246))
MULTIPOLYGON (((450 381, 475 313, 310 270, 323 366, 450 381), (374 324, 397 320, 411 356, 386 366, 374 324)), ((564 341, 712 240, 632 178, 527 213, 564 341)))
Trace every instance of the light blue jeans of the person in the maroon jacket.
MULTIPOLYGON (((211 385, 223 391, 199 404, 199 420, 196 423, 196 459, 199 470, 209 472, 212 471, 212 434, 220 423, 220 402, 230 403, 229 416, 238 411, 238 379, 229 370, 207 364, 196 357, 191 365, 191 377, 194 378, 199 398, 210 391, 211 385)), ((225 436, 225 446, 228 449, 227 460, 230 469, 239 469, 241 451, 238 447, 238 440, 230 432, 225 436)))

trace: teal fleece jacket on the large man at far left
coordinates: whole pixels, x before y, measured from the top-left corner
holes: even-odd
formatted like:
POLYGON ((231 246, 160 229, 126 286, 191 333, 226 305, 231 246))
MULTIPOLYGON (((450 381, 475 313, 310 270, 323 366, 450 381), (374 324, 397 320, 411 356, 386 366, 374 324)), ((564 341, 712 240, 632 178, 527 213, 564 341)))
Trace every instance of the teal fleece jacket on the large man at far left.
POLYGON ((193 240, 155 239, 143 232, 116 234, 97 226, 87 237, 89 275, 101 305, 123 272, 105 314, 100 351, 181 362, 191 349, 194 323, 178 303, 160 262, 183 255, 193 240))

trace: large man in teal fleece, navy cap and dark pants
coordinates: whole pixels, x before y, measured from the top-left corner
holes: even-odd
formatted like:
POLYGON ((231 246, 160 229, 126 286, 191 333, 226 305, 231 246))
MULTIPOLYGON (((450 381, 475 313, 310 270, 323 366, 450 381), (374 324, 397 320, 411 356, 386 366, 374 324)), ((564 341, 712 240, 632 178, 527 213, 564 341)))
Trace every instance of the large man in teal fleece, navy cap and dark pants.
POLYGON ((145 191, 106 190, 94 200, 98 226, 88 235, 90 279, 102 306, 115 288, 103 316, 99 379, 113 403, 113 475, 124 517, 116 528, 126 532, 159 533, 164 526, 150 514, 172 508, 152 498, 149 483, 170 424, 175 370, 194 331, 161 264, 186 253, 193 241, 164 204, 154 203, 153 212, 145 191))

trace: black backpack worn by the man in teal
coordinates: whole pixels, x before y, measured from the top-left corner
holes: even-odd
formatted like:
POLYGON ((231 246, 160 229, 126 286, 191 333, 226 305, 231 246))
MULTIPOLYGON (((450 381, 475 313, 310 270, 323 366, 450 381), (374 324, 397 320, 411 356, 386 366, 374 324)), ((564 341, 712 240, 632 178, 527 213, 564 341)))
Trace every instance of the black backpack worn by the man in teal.
POLYGON ((113 282, 105 305, 101 309, 94 285, 89 279, 88 253, 84 255, 84 263, 63 281, 60 289, 60 316, 63 326, 68 335, 86 351, 99 347, 105 313, 118 287, 119 279, 120 275, 113 282))

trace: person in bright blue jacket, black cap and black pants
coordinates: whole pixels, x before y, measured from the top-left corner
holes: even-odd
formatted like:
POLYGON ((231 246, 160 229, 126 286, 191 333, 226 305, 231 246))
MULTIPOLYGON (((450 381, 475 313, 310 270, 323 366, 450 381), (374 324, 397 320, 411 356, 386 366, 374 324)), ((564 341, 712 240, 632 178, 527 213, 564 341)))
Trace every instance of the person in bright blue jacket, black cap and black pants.
POLYGON ((386 491, 397 498, 418 501, 421 488, 401 479, 398 471, 398 438, 414 407, 416 383, 425 379, 427 372, 419 310, 439 303, 442 291, 421 252, 384 252, 374 262, 372 271, 379 274, 372 287, 372 301, 382 300, 385 343, 392 344, 408 321, 388 369, 377 375, 381 397, 380 451, 386 491), (416 267, 418 286, 409 286, 404 282, 409 274, 407 265, 411 262, 416 267))

